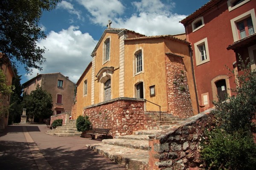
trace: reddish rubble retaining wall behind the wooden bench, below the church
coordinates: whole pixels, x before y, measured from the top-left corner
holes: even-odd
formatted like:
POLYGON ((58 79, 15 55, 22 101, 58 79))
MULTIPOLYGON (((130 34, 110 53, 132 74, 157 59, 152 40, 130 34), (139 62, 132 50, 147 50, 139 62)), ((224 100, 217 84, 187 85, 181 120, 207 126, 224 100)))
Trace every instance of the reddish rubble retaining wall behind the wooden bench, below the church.
POLYGON ((144 99, 120 97, 84 108, 95 128, 108 128, 110 135, 131 135, 133 131, 148 128, 144 114, 144 99))

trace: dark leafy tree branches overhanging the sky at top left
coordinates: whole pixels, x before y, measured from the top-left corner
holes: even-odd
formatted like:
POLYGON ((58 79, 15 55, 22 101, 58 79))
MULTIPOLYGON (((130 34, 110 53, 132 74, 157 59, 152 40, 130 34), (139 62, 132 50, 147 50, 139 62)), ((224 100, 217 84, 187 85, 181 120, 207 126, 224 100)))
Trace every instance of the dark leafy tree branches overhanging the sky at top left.
POLYGON ((45 61, 44 48, 37 46, 46 35, 38 26, 43 11, 54 9, 60 0, 0 0, 0 65, 8 59, 24 65, 27 72, 31 68, 41 70, 45 61))

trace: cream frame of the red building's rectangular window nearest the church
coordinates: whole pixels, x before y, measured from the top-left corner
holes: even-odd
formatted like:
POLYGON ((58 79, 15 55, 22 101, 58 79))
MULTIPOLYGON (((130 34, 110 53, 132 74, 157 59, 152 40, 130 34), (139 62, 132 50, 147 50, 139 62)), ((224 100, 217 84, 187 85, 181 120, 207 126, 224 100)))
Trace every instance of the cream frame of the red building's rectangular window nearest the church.
POLYGON ((200 41, 196 42, 196 43, 194 44, 194 48, 195 48, 195 61, 196 61, 196 65, 197 65, 197 66, 210 61, 210 55, 209 55, 209 48, 208 48, 207 37, 204 38, 203 40, 200 40, 200 41), (205 51, 206 51, 207 59, 201 61, 201 53, 200 53, 200 50, 198 49, 198 47, 201 46, 201 45, 203 45, 203 44, 204 44, 204 46, 205 46, 205 51))

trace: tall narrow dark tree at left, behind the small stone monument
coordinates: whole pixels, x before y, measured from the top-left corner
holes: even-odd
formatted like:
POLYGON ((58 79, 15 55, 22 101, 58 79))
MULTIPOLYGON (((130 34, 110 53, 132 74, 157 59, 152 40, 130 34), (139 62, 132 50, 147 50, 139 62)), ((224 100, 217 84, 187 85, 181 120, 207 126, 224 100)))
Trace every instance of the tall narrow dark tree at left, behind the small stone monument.
POLYGON ((17 68, 13 67, 15 77, 12 79, 12 86, 14 87, 13 94, 11 95, 11 104, 9 110, 8 124, 19 123, 20 116, 22 115, 22 86, 20 85, 20 77, 17 72, 17 68))

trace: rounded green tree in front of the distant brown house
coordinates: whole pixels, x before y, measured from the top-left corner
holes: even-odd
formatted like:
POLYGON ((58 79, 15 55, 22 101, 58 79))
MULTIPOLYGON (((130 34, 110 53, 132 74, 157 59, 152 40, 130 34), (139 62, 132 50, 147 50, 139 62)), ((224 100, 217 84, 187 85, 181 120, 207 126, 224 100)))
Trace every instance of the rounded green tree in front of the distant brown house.
POLYGON ((31 94, 24 96, 22 103, 23 108, 26 108, 28 118, 34 120, 34 122, 48 119, 53 113, 52 96, 39 85, 31 94))

